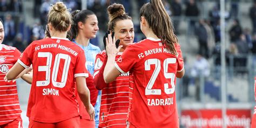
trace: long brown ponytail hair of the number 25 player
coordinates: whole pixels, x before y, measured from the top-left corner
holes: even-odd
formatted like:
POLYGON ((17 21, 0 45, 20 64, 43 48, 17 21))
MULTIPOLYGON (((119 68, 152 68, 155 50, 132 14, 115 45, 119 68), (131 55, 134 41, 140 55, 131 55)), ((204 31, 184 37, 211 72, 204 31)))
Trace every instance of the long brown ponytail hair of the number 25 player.
POLYGON ((162 43, 167 45, 167 48, 172 53, 177 55, 174 47, 175 43, 178 43, 176 35, 174 35, 174 29, 171 18, 166 12, 161 0, 151 0, 150 3, 146 3, 140 9, 140 17, 145 17, 149 27, 154 34, 162 40, 162 43))

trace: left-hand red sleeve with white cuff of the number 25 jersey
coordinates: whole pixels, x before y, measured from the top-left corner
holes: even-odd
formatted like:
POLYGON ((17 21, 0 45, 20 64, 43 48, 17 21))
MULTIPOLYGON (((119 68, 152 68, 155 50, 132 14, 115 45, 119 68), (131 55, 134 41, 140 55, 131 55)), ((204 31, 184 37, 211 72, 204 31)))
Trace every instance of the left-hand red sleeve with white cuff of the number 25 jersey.
POLYGON ((133 46, 130 45, 127 46, 123 54, 118 58, 116 63, 114 63, 114 66, 116 66, 120 72, 126 73, 130 71, 138 59, 139 58, 137 57, 136 53, 134 53, 133 46))

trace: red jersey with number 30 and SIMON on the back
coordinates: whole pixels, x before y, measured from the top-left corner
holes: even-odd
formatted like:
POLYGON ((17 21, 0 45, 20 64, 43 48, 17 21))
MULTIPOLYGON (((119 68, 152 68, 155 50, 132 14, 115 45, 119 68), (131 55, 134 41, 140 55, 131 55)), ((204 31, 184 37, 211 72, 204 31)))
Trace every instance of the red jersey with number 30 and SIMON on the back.
POLYGON ((33 64, 27 116, 56 123, 79 116, 75 78, 88 77, 84 51, 66 38, 51 37, 32 42, 18 60, 33 64))

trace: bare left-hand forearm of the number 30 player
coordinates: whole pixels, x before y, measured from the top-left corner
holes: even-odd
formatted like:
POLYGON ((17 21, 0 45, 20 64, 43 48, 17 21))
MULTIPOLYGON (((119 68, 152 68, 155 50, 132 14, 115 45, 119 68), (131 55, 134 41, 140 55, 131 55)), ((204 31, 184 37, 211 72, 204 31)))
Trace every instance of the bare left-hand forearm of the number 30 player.
POLYGON ((19 75, 22 73, 22 71, 24 71, 24 69, 25 68, 21 64, 16 62, 14 66, 12 66, 12 68, 7 72, 5 77, 7 80, 17 79, 20 77, 19 75))

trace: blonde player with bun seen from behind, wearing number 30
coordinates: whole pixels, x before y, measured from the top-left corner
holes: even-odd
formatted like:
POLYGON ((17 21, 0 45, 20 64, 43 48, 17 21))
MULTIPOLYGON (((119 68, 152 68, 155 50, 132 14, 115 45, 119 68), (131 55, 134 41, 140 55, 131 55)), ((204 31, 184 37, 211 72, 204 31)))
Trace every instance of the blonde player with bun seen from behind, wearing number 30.
POLYGON ((72 24, 65 4, 57 2, 48 14, 51 38, 32 42, 25 49, 13 68, 7 73, 8 80, 33 65, 33 81, 28 103, 29 127, 79 127, 77 91, 91 119, 90 92, 85 84, 88 71, 84 51, 66 38, 72 24))

